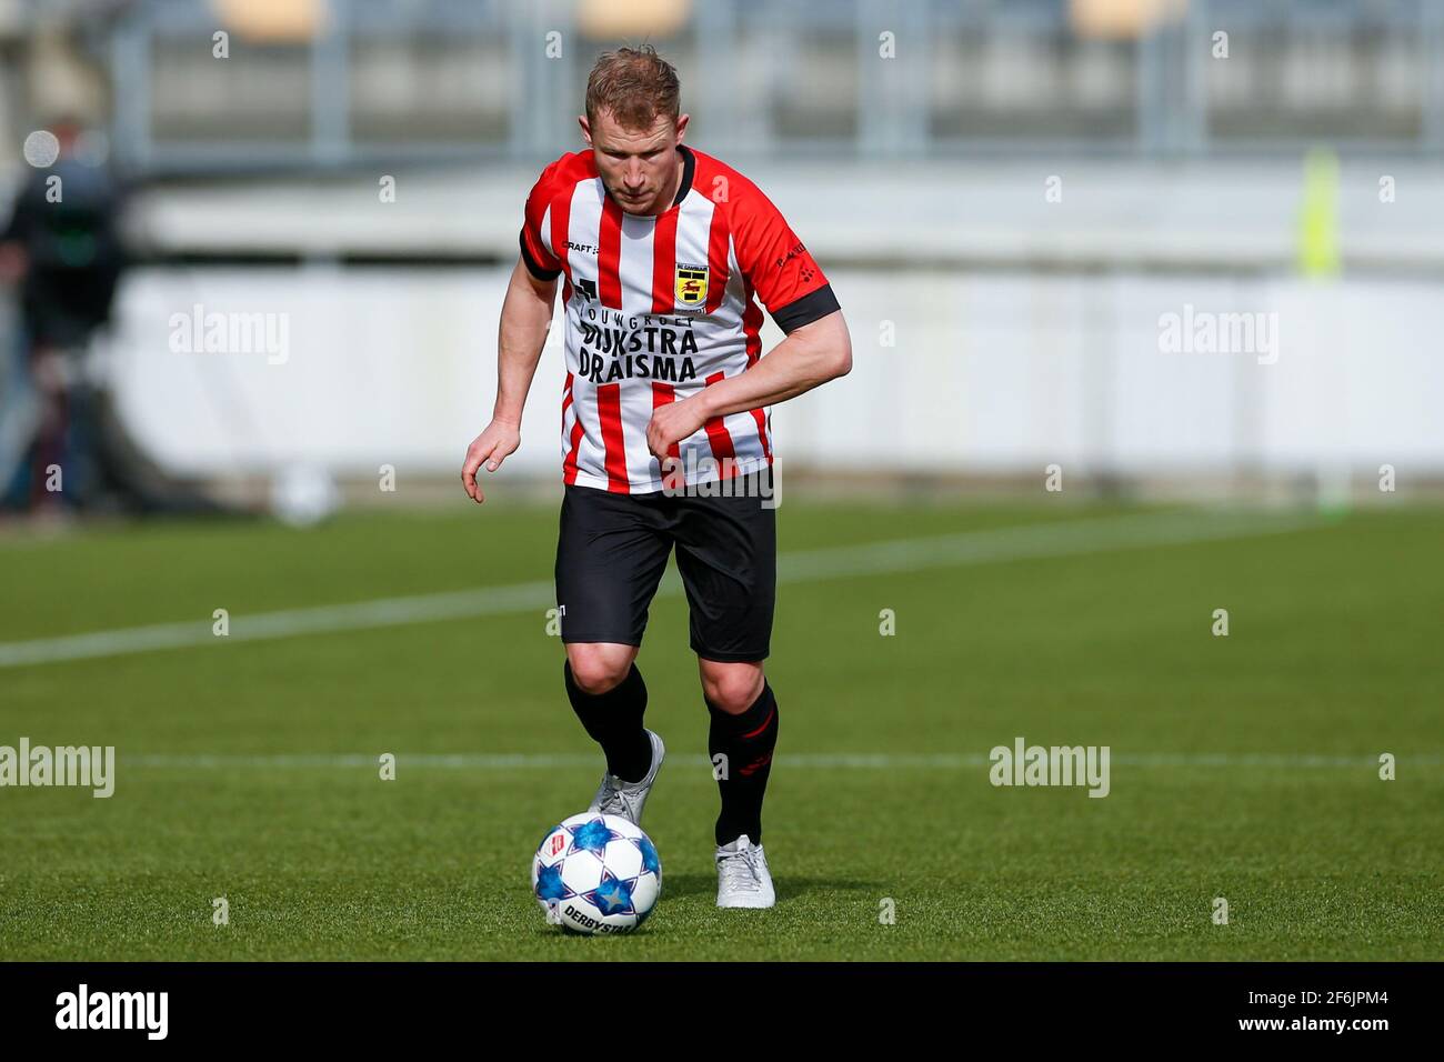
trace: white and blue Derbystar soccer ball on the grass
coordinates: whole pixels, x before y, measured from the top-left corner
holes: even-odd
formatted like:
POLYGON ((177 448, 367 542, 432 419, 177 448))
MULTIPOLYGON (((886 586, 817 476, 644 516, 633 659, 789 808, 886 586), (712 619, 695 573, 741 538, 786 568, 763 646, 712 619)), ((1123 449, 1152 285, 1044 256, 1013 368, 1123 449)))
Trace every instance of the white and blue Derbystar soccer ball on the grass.
POLYGON ((661 860, 641 828, 583 811, 553 826, 531 860, 547 920, 578 933, 630 933, 661 894, 661 860))

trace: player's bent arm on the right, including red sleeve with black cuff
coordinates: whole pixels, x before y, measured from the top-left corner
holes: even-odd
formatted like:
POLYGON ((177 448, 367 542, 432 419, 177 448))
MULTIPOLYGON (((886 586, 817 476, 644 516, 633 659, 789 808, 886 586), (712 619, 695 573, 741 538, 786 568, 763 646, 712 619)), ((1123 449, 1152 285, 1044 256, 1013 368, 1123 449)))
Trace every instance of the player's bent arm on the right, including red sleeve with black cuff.
POLYGON ((738 264, 787 338, 747 371, 658 406, 647 426, 657 458, 715 416, 774 406, 852 368, 852 337, 827 277, 767 197, 752 185, 742 195, 738 264))

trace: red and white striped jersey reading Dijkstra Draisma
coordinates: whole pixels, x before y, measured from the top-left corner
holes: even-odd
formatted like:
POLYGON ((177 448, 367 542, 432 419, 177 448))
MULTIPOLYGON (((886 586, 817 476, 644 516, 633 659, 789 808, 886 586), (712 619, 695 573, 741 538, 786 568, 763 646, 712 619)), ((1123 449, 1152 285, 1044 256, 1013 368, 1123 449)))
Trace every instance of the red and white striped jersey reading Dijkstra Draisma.
MULTIPOLYGON (((653 410, 747 370, 762 305, 790 332, 838 309, 822 269, 745 176, 679 146, 670 210, 634 217, 606 194, 591 150, 547 166, 526 205, 521 257, 565 276, 563 478, 621 494, 663 490, 647 451, 653 410)), ((712 418, 673 448, 667 487, 773 462, 768 412, 712 418)))

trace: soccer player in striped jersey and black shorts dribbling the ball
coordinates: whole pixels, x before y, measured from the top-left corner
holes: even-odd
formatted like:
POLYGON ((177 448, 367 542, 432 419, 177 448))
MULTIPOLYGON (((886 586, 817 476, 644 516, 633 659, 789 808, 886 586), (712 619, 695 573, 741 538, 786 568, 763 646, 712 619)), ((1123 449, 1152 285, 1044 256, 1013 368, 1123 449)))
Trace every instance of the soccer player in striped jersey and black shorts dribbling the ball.
POLYGON ((777 572, 768 407, 848 373, 822 269, 745 176, 682 143, 676 69, 650 46, 602 55, 586 150, 542 172, 501 308, 492 420, 462 484, 521 442, 521 409, 566 314, 565 494, 556 601, 572 708, 606 769, 591 811, 641 819, 661 767, 637 652, 673 546, 718 766, 719 907, 771 907, 762 795, 778 708, 762 670, 777 572), (787 338, 762 357, 767 306, 787 338))

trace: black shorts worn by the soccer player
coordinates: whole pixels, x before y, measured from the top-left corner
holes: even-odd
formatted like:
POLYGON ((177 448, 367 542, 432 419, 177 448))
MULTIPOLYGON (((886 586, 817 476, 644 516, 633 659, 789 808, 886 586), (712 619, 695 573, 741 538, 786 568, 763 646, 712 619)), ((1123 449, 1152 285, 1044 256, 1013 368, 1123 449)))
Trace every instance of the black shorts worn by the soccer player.
POLYGON ((676 545, 692 650, 708 660, 765 659, 777 594, 777 511, 758 497, 755 481, 770 471, 738 477, 731 497, 566 487, 556 543, 562 640, 640 646, 676 545))

